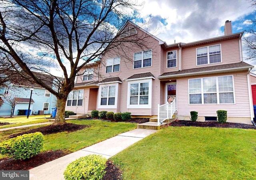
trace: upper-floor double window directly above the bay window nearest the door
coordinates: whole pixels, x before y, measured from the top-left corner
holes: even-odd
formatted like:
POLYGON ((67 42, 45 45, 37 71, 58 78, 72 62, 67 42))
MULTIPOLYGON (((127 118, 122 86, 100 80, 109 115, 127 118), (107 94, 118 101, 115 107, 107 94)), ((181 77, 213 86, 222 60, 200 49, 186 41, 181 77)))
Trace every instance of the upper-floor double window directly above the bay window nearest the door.
POLYGON ((151 66, 152 50, 134 53, 134 69, 151 66))

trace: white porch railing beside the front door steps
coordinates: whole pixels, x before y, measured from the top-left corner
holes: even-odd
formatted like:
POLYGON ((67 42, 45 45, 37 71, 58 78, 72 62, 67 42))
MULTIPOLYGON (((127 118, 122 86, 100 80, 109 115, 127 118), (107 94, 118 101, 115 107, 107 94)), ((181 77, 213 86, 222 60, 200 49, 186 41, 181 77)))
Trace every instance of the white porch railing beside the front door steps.
POLYGON ((166 119, 172 118, 176 110, 176 98, 172 103, 167 103, 164 105, 158 104, 158 113, 157 113, 157 125, 162 124, 166 119))

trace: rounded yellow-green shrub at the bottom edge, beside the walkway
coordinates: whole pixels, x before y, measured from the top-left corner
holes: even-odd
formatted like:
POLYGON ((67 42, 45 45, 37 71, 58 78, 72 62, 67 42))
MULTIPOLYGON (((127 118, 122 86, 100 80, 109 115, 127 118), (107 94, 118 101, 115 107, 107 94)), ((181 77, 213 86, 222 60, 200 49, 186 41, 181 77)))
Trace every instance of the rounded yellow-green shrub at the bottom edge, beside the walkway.
POLYGON ((100 180, 106 173, 106 158, 101 155, 88 155, 68 164, 64 171, 65 180, 100 180))

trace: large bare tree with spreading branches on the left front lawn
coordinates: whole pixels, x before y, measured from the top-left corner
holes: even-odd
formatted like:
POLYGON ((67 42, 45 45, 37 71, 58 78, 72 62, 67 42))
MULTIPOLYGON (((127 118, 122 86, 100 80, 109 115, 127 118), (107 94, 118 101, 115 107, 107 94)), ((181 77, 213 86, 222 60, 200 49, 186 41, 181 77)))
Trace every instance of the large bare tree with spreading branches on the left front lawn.
MULTIPOLYGON (((76 74, 96 60, 133 16, 131 0, 3 0, 0 4, 0 52, 10 55, 36 83, 57 97, 54 124, 64 124, 68 94, 76 74), (64 74, 58 79, 50 68, 64 74), (47 85, 36 73, 55 79, 47 85), (70 71, 70 73, 69 73, 70 71)), ((115 42, 115 45, 109 46, 115 42)), ((138 43, 138 40, 133 40, 138 43)))

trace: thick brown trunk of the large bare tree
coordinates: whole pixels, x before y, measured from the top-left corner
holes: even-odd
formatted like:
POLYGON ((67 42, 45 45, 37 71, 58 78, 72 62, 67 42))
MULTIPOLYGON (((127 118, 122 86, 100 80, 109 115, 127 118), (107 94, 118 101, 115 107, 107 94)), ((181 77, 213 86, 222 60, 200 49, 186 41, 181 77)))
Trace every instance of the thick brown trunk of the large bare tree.
POLYGON ((65 106, 67 98, 58 98, 57 100, 57 113, 53 125, 63 125, 65 121, 65 106))

